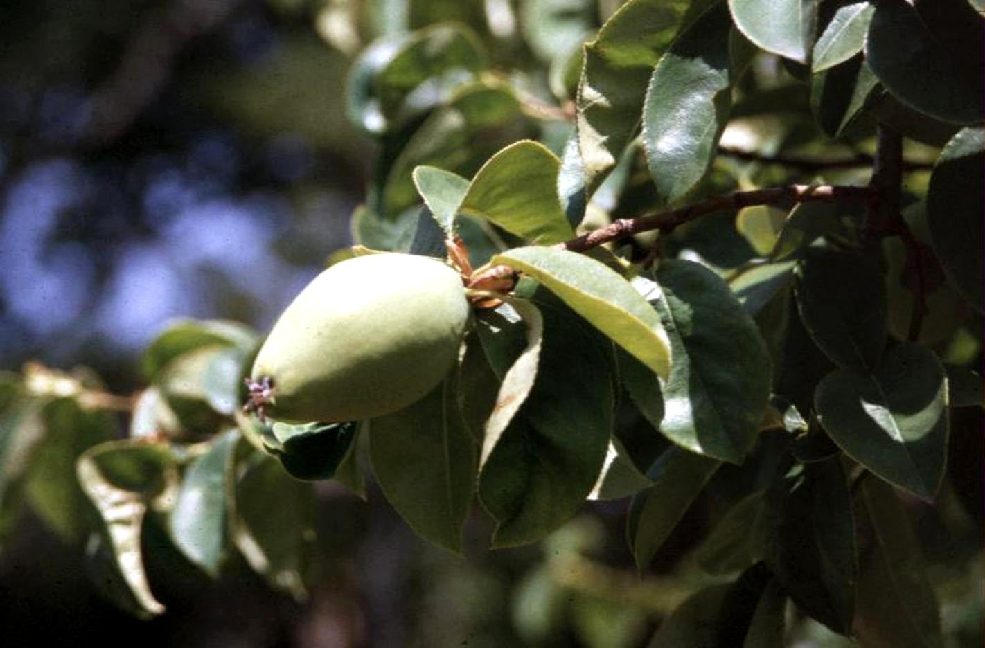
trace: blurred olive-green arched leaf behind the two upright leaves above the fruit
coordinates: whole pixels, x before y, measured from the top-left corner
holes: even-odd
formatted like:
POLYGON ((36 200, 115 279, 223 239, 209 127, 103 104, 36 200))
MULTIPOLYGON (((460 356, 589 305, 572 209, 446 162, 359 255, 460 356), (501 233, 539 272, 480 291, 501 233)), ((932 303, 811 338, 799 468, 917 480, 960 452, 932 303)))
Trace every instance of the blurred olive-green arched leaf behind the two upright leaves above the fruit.
POLYGON ((462 86, 427 116, 383 173, 381 216, 396 218, 420 203, 413 179, 417 166, 472 175, 496 151, 522 137, 522 126, 520 104, 508 86, 462 86))

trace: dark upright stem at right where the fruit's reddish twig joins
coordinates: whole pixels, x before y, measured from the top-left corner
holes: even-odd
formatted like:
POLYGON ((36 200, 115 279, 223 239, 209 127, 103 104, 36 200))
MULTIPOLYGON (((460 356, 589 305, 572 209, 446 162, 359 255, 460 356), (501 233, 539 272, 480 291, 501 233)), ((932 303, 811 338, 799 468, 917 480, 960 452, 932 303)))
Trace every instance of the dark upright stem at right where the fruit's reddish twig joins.
POLYGON ((879 124, 876 131, 876 158, 869 186, 877 190, 867 211, 866 229, 872 238, 899 236, 906 246, 906 265, 916 275, 913 291, 913 310, 907 339, 920 337, 924 315, 927 314, 927 276, 924 255, 913 230, 903 219, 901 191, 903 182, 903 138, 894 130, 879 124))

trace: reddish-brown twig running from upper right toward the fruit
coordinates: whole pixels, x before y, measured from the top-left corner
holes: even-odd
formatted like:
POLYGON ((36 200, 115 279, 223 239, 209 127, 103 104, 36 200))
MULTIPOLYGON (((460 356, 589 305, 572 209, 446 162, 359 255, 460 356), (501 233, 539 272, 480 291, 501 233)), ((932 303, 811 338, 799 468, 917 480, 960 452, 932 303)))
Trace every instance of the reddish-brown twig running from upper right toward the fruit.
POLYGON ((742 209, 754 205, 775 205, 784 202, 869 201, 877 191, 878 189, 873 187, 830 184, 788 184, 781 187, 753 189, 752 191, 736 191, 680 209, 658 212, 648 216, 641 216, 637 219, 620 219, 607 227, 602 227, 563 243, 558 243, 557 247, 572 252, 584 252, 587 249, 598 247, 603 243, 624 238, 625 236, 630 236, 641 231, 651 231, 653 229, 669 231, 674 227, 713 212, 742 209))

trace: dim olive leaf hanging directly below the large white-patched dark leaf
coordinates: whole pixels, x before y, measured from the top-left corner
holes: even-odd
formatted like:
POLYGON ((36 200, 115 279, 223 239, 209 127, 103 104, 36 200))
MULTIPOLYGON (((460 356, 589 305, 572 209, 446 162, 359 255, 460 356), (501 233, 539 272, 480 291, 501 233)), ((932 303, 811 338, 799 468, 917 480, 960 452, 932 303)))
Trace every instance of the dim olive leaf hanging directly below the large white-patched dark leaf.
POLYGON ((646 471, 653 486, 633 496, 626 537, 636 567, 643 571, 684 517, 721 463, 671 446, 646 471))

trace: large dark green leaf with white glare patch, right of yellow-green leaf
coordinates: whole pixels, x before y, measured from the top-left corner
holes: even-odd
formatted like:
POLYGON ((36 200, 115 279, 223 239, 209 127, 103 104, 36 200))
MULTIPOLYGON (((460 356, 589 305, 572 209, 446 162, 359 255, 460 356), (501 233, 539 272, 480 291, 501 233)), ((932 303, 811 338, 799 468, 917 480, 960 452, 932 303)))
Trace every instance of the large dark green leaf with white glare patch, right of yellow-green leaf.
POLYGON ((769 399, 770 365, 753 318, 728 285, 690 261, 660 264, 650 297, 671 341, 660 431, 689 449, 742 463, 769 399))

